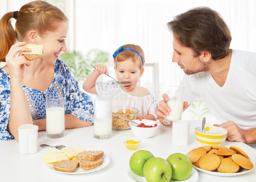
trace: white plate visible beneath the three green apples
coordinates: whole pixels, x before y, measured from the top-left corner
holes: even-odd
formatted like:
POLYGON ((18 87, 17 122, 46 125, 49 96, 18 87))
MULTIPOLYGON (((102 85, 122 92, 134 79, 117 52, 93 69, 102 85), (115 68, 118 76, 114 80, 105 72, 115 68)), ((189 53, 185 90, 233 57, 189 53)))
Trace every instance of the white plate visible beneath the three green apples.
MULTIPOLYGON (((136 182, 147 182, 146 178, 144 176, 139 176, 137 174, 135 174, 134 172, 132 172, 132 170, 129 168, 127 171, 127 174, 129 176, 129 178, 131 178, 133 181, 136 182)), ((192 168, 191 174, 187 179, 182 180, 182 182, 196 182, 198 179, 198 172, 192 168)), ((175 180, 175 179, 171 179, 170 181, 176 181, 176 182, 180 182, 180 180, 175 180)))

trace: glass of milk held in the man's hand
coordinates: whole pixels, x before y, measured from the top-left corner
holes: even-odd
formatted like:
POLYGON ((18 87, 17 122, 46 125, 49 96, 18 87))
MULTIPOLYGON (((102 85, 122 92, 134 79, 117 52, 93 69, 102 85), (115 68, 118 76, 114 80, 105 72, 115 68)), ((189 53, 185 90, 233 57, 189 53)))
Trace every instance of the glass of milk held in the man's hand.
POLYGON ((173 121, 181 120, 185 99, 185 88, 170 85, 165 94, 169 98, 167 105, 171 108, 171 111, 169 115, 164 118, 164 123, 171 124, 173 121))

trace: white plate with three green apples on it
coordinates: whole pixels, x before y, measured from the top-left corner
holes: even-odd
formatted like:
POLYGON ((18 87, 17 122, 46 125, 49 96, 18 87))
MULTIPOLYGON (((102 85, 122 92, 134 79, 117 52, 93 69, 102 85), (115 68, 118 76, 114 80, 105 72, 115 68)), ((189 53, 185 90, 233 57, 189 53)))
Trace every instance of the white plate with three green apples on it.
POLYGON ((181 153, 173 153, 166 160, 147 150, 134 152, 129 161, 128 176, 136 182, 184 181, 196 182, 198 172, 189 158, 181 153))

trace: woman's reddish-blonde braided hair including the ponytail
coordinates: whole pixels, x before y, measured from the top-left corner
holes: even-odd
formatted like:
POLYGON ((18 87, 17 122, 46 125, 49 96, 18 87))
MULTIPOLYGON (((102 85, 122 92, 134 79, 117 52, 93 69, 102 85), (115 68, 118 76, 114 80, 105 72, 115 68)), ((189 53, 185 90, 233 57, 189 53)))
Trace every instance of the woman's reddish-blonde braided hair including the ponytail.
POLYGON ((58 28, 59 22, 68 21, 56 6, 44 1, 33 1, 23 5, 17 14, 15 30, 11 20, 13 12, 8 12, 0 20, 0 62, 5 62, 9 49, 17 41, 23 41, 30 30, 42 36, 47 31, 58 28))

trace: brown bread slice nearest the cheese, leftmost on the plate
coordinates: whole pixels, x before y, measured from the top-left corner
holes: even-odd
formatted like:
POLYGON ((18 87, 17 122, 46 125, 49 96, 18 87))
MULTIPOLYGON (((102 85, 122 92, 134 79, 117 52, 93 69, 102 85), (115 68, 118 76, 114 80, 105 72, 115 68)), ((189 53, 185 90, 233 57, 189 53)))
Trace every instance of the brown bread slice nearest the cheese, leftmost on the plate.
POLYGON ((63 171, 63 172, 73 172, 78 166, 77 161, 60 161, 55 164, 52 164, 52 167, 55 170, 63 171))

